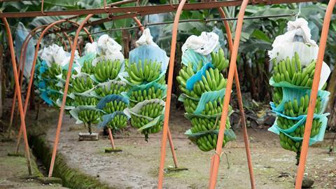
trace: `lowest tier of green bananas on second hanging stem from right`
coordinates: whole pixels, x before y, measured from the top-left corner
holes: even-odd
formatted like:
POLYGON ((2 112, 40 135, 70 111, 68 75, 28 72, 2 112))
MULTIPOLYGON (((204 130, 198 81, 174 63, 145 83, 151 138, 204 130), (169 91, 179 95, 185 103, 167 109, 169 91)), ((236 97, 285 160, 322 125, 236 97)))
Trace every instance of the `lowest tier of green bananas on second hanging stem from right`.
MULTIPOLYGON (((205 134, 197 139, 197 146, 201 151, 207 152, 216 149, 218 134, 205 134)), ((228 137, 224 136, 223 146, 225 146, 228 137)))

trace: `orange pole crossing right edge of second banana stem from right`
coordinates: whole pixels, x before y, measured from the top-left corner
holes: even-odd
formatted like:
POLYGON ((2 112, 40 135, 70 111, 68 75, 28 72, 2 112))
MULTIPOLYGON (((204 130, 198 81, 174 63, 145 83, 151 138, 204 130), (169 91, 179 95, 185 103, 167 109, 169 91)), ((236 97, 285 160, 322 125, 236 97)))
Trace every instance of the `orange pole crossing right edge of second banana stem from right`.
POLYGON ((240 35, 241 35, 241 28, 243 26, 244 14, 245 14, 247 4, 248 4, 248 0, 244 0, 243 3, 241 3, 238 20, 237 20, 237 27, 236 27, 236 32, 235 32, 235 42, 233 43, 233 48, 232 48, 232 53, 231 53, 228 83, 226 85, 223 111, 221 115, 221 125, 220 125, 220 129, 218 133, 216 154, 214 155, 214 167, 212 168, 212 173, 211 173, 210 182, 209 182, 209 188, 211 189, 216 188, 218 167, 219 167, 219 162, 221 158, 223 138, 224 138, 224 132, 225 132, 225 123, 226 123, 226 118, 228 116, 228 107, 229 107, 230 97, 231 97, 233 77, 236 72, 236 61, 237 61, 237 53, 238 53, 239 41, 240 41, 240 35))

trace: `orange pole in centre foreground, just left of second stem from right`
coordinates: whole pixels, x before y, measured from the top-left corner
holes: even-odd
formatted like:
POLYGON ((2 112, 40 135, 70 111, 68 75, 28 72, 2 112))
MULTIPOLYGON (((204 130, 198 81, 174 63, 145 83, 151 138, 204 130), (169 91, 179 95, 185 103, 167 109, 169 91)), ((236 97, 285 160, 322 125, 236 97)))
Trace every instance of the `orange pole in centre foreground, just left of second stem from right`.
POLYGON ((169 124, 169 113, 170 113, 170 102, 172 100, 172 85, 173 85, 173 72, 174 72, 174 61, 175 61, 175 50, 176 50, 176 38, 177 29, 179 27, 180 15, 186 0, 181 0, 179 7, 176 10, 176 15, 174 18, 173 31, 172 31, 172 48, 170 50, 169 59, 169 71, 168 71, 168 83, 167 83, 167 98, 165 105, 165 119, 163 122, 163 132, 162 132, 162 144, 161 144, 161 159, 160 159, 160 169, 158 178, 158 188, 161 189, 163 185, 163 174, 165 168, 165 158, 166 158, 166 145, 168 136, 168 124, 169 124))

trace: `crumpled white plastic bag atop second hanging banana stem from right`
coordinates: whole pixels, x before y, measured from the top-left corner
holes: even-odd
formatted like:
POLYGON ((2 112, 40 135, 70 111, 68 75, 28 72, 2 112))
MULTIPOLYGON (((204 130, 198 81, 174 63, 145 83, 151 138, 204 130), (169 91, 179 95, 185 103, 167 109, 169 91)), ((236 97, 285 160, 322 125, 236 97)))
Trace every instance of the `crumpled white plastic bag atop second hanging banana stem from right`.
POLYGON ((218 35, 214 32, 203 31, 200 36, 189 36, 182 45, 182 52, 193 49, 201 55, 209 55, 218 46, 218 35))

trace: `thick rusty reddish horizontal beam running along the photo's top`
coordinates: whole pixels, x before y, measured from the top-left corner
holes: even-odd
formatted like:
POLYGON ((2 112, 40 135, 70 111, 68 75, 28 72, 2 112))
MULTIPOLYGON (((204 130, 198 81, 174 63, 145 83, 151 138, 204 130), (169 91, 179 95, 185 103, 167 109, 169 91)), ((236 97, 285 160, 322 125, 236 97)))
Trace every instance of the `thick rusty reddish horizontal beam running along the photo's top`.
MULTIPOLYGON (((249 4, 281 4, 281 3, 300 3, 311 2, 311 0, 255 0, 250 1, 249 4)), ((315 2, 315 1, 313 1, 315 2)), ((186 3, 183 10, 200 10, 218 8, 221 6, 240 6, 242 0, 217 1, 206 3, 186 3)), ((114 6, 114 5, 113 5, 114 6)), ((127 7, 113 7, 106 8, 109 13, 127 13, 127 12, 150 12, 158 11, 160 13, 173 12, 179 4, 166 4, 156 6, 127 6, 127 7)), ((56 10, 56 11, 30 11, 30 12, 14 12, 14 13, 0 13, 0 18, 27 18, 38 16, 60 16, 60 15, 87 15, 87 14, 106 14, 104 8, 80 9, 80 10, 56 10)))

